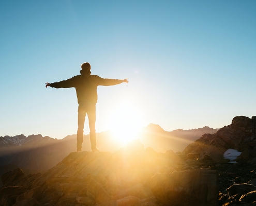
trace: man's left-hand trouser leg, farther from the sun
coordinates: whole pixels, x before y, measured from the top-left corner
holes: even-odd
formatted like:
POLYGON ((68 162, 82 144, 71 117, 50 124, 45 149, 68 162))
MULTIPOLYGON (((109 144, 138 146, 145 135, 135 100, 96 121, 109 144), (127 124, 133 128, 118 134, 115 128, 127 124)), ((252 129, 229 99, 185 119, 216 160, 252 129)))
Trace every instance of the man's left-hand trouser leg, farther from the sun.
POLYGON ((78 132, 77 132, 77 150, 82 150, 83 136, 84 136, 84 121, 86 116, 86 107, 84 105, 78 106, 78 132))

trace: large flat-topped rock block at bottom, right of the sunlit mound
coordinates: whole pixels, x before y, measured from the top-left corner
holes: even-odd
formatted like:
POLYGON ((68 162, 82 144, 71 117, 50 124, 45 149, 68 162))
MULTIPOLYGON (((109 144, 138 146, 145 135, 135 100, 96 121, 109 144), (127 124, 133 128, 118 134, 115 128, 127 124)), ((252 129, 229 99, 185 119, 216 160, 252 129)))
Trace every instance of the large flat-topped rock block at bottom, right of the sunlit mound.
POLYGON ((164 205, 217 205, 218 171, 185 170, 156 174, 150 183, 157 200, 164 205))

